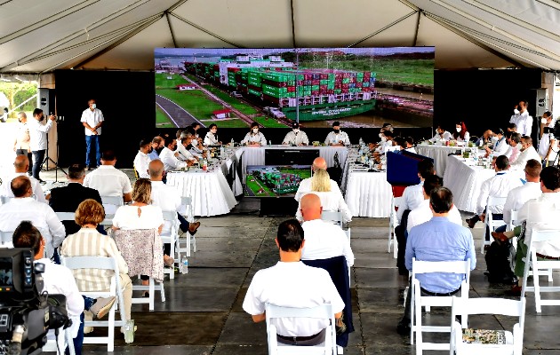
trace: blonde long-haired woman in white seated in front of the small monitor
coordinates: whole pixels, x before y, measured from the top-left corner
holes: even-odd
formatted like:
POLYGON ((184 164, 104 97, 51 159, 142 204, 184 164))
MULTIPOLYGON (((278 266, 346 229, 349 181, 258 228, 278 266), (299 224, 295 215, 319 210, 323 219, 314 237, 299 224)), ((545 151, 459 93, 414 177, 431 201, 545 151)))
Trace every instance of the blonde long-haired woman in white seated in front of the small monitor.
MULTIPOLYGON (((326 170, 318 169, 311 181, 311 193, 315 193, 321 200, 321 206, 324 210, 342 213, 342 222, 348 223, 352 221, 352 212, 348 209, 348 205, 337 191, 331 190, 331 178, 326 170)), ((307 196, 304 195, 303 197, 307 196)), ((302 197, 302 199, 303 199, 302 197)), ((301 220, 301 210, 296 212, 296 218, 301 220)))

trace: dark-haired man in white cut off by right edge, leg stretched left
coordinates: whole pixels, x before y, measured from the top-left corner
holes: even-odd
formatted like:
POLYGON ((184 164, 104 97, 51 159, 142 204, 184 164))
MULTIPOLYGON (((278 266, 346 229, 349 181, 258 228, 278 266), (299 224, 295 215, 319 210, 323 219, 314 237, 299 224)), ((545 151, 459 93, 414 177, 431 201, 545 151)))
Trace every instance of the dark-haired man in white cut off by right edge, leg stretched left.
MULTIPOLYGON (((492 234, 495 239, 502 242, 514 236, 519 237, 514 270, 518 284, 512 288, 512 293, 516 296, 521 295, 524 257, 527 256, 532 229, 560 229, 560 169, 558 167, 545 167, 540 171, 540 191, 542 194, 538 198, 526 201, 519 209, 517 220, 520 226, 516 226, 513 231, 492 234)), ((540 259, 560 258, 560 240, 538 242, 534 247, 540 259)))

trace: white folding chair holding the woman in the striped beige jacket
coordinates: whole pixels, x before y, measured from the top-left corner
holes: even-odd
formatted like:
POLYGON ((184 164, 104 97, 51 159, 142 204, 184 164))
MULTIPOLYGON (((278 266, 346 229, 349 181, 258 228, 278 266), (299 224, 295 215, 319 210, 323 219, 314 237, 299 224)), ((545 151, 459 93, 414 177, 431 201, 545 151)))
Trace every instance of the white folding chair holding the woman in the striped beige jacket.
POLYGON ((84 335, 84 343, 107 344, 107 351, 115 350, 115 327, 123 327, 126 319, 124 311, 123 290, 118 273, 118 264, 112 257, 107 256, 66 256, 61 258, 61 263, 68 269, 102 269, 113 270, 111 286, 108 291, 84 291, 80 292, 84 296, 91 298, 116 296, 121 319, 115 319, 116 304, 108 312, 108 320, 85 320, 84 327, 108 327, 108 336, 87 336, 84 335))

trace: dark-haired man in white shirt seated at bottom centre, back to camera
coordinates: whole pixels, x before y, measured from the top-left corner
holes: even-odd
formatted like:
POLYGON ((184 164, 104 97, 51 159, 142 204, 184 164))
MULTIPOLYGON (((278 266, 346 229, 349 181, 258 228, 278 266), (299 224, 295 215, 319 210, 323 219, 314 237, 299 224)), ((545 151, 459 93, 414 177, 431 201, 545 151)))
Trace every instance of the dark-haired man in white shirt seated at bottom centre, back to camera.
MULTIPOLYGON (((258 271, 244 298, 243 309, 257 323, 266 319, 265 304, 284 307, 313 308, 332 304, 336 326, 344 328, 341 315, 344 302, 332 283, 331 276, 323 269, 301 263, 304 247, 303 228, 295 220, 278 225, 276 246, 280 261, 258 271)), ((316 345, 324 342, 328 319, 270 319, 276 326, 279 343, 316 345)))

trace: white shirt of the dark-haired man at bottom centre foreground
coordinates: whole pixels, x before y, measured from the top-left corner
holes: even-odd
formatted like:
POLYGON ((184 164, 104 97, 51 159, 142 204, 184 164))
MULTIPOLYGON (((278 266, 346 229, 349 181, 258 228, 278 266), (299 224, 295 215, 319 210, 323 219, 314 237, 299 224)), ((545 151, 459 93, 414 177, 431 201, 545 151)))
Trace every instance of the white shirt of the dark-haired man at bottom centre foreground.
MULTIPOLYGON (((344 309, 344 302, 329 272, 301 262, 280 261, 255 273, 247 289, 243 309, 255 316, 265 312, 265 304, 297 308, 332 304, 335 313, 344 309)), ((284 336, 316 335, 329 326, 328 319, 279 318, 270 321, 276 326, 276 333, 284 336)))

